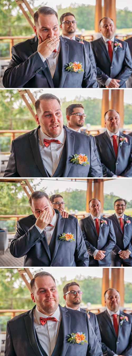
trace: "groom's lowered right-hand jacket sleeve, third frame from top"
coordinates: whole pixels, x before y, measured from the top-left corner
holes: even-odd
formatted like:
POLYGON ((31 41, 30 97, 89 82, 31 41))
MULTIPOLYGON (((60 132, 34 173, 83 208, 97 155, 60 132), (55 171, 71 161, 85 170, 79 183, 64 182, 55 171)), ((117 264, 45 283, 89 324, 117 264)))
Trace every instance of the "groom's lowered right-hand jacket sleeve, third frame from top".
POLYGON ((78 224, 78 220, 76 220, 76 248, 74 258, 77 267, 89 266, 89 255, 86 250, 83 234, 78 224))

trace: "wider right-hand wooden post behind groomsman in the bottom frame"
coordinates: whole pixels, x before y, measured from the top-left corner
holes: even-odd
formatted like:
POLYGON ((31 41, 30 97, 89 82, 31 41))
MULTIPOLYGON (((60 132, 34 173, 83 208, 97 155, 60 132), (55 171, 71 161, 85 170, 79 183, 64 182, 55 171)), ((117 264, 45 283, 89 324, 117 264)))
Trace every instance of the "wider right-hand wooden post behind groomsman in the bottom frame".
POLYGON ((124 305, 124 268, 111 268, 111 288, 120 293, 121 307, 124 305))

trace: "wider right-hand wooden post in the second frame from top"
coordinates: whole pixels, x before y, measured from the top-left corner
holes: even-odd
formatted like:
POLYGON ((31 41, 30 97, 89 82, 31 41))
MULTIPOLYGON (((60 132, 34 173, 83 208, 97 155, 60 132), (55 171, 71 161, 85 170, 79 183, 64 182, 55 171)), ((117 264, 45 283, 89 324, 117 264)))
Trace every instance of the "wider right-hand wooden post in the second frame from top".
POLYGON ((111 101, 110 109, 115 109, 119 112, 121 118, 121 125, 123 127, 124 120, 124 89, 112 89, 111 90, 111 101))

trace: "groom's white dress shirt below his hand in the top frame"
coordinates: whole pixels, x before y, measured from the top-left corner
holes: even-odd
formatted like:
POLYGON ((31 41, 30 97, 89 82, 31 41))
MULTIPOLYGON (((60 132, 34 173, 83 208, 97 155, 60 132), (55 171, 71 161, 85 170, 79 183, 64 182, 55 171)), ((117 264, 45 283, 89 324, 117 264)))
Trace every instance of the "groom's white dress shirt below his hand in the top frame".
POLYGON ((59 56, 59 51, 60 51, 60 42, 58 43, 58 46, 56 47, 56 50, 57 50, 57 52, 52 52, 52 53, 50 54, 50 56, 47 57, 47 58, 44 58, 44 57, 42 56, 42 54, 37 51, 38 54, 39 54, 39 56, 41 57, 42 61, 43 61, 43 62, 47 61, 49 70, 50 70, 50 72, 51 72, 51 77, 52 77, 52 79, 53 79, 54 72, 55 72, 56 66, 57 66, 57 61, 58 61, 58 56, 59 56))

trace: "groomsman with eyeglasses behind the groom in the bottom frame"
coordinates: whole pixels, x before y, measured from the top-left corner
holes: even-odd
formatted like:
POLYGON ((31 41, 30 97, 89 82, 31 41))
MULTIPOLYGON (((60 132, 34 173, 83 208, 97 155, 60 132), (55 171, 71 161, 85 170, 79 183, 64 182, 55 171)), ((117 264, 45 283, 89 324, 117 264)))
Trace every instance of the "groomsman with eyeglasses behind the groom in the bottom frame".
MULTIPOLYGON (((67 309, 73 309, 73 310, 78 310, 79 312, 87 313, 85 309, 80 308, 80 303, 82 299, 82 294, 79 284, 76 282, 71 282, 68 283, 64 286, 63 288, 63 298, 65 299, 65 308, 67 309)), ((101 346, 101 335, 100 335, 100 329, 99 329, 99 324, 97 321, 96 314, 94 313, 87 313, 89 321, 91 325, 93 326, 95 335, 97 336, 97 340, 100 343, 101 346)))

